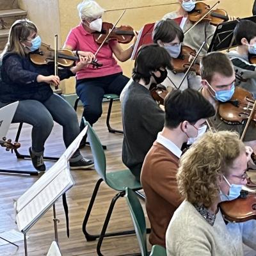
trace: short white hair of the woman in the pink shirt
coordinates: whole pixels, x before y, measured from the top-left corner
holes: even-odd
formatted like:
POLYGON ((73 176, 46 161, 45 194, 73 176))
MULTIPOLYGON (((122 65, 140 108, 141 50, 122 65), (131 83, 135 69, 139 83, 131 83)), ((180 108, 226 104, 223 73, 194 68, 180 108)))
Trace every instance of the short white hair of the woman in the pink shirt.
POLYGON ((104 9, 93 0, 84 0, 77 5, 79 17, 81 19, 93 18, 96 19, 104 13, 104 9))

